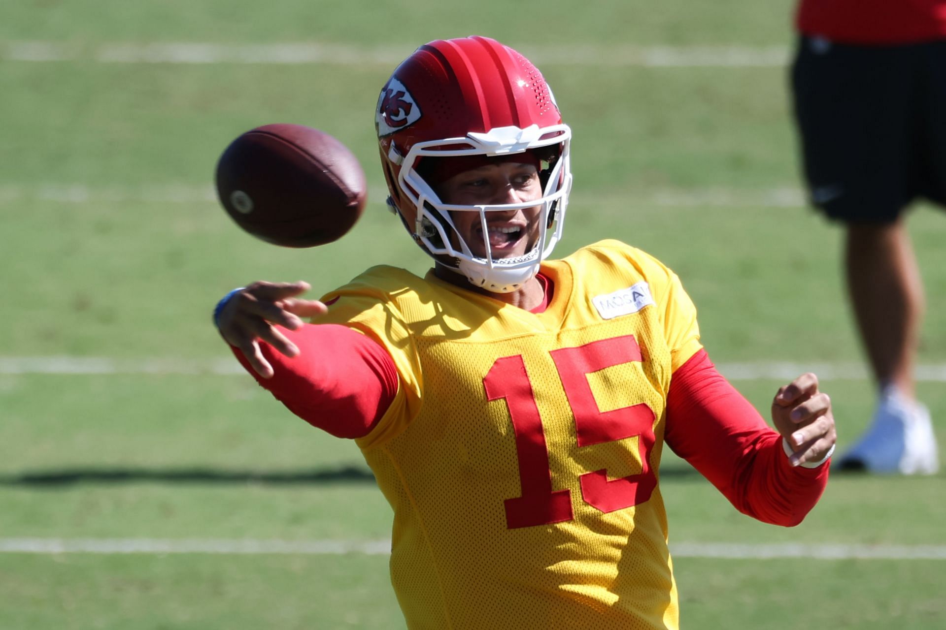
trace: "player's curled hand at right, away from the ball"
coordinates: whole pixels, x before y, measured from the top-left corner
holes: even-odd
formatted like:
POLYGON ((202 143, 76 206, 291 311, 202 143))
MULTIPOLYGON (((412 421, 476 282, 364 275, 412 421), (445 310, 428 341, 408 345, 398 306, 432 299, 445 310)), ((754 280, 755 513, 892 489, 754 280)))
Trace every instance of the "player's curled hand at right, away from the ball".
POLYGON ((793 466, 824 459, 837 439, 831 399, 818 391, 818 377, 811 372, 780 387, 772 400, 772 421, 794 451, 793 466))

